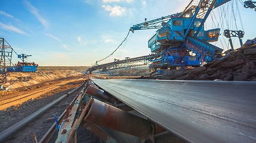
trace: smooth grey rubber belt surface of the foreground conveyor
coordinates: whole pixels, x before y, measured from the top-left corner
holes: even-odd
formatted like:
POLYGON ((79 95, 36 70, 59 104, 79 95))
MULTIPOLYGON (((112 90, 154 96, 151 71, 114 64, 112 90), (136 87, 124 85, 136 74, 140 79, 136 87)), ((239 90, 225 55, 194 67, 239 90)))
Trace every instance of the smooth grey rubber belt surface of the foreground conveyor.
POLYGON ((188 142, 256 142, 256 82, 94 82, 188 142))

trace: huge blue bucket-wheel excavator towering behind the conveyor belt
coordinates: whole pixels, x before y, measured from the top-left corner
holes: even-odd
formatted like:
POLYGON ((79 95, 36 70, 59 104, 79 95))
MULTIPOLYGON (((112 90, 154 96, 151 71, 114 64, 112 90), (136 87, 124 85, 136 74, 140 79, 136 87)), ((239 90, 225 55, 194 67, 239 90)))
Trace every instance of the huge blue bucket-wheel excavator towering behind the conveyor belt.
MULTIPOLYGON (((203 62, 209 63, 222 58, 223 49, 210 43, 218 41, 220 29, 205 30, 204 23, 213 9, 230 1, 192 0, 181 13, 167 15, 150 21, 147 21, 145 18, 143 23, 130 27, 129 30, 131 32, 135 30, 158 29, 155 35, 148 41, 148 48, 150 48, 152 54, 150 57, 147 57, 147 61, 151 63, 149 67, 153 71, 152 73, 157 73, 164 69, 183 70, 199 67, 203 62)), ((245 4, 247 3, 245 2, 245 4)), ((251 5, 251 7, 253 6, 251 5)), ((224 36, 229 38, 231 51, 234 51, 231 38, 239 38, 240 45, 242 46, 241 38, 243 38, 243 35, 244 32, 242 30, 226 29, 224 31, 224 36)), ((116 62, 113 62, 96 65, 88 69, 88 71, 92 73, 93 70, 98 69, 117 69, 113 67, 119 66, 116 62)))

